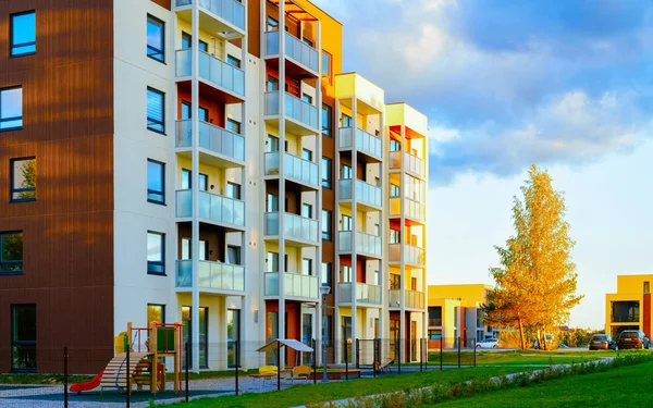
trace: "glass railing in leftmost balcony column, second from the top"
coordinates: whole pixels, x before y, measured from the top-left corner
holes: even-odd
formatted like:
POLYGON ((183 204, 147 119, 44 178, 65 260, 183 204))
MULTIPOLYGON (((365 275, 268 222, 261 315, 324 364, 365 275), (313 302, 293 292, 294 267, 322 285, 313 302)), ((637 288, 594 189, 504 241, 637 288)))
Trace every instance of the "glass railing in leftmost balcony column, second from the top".
MULTIPOLYGON (((176 51, 177 77, 193 73, 192 52, 190 48, 176 51)), ((202 50, 199 50, 199 76, 241 97, 245 96, 245 72, 202 50)))

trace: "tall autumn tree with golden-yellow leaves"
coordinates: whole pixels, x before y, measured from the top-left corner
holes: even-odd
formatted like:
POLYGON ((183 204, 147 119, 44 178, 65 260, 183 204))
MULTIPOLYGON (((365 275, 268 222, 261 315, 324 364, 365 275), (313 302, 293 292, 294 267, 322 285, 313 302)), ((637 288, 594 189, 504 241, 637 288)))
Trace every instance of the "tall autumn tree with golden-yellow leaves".
MULTIPOLYGON (((495 247, 501 267, 490 269, 496 285, 485 306, 486 324, 517 326, 521 348, 525 329, 546 333, 566 322, 582 298, 576 294, 578 274, 570 254, 576 243, 568 235, 563 193, 553 188, 545 170, 533 164, 528 175, 523 201, 514 198, 516 235, 504 248, 495 247)), ((540 345, 545 342, 540 338, 540 345)))

